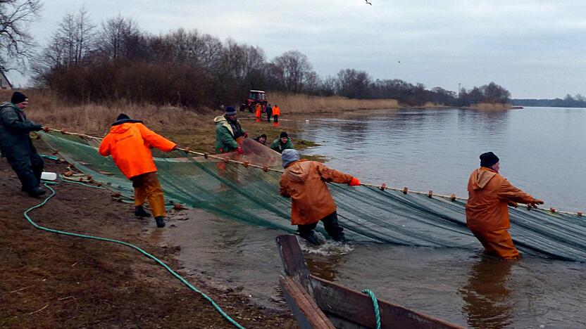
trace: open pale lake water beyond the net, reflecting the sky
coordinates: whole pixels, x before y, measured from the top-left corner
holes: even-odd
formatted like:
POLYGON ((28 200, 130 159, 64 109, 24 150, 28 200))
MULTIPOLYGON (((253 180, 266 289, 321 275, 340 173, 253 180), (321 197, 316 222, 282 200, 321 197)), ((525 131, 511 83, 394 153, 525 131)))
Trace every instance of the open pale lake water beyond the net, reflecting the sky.
POLYGON ((362 181, 466 196, 478 155, 492 150, 501 173, 548 207, 586 210, 586 109, 401 109, 299 120, 306 150, 362 181))

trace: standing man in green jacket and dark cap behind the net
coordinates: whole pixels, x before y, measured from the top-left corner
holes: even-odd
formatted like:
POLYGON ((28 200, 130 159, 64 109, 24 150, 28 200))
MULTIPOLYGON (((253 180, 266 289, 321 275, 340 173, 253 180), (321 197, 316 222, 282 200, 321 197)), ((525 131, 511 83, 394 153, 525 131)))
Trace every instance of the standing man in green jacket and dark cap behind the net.
POLYGON ((244 153, 240 147, 242 143, 237 141, 239 138, 247 138, 248 133, 242 129, 236 118, 236 109, 228 106, 224 115, 216 117, 213 122, 216 122, 216 153, 244 153))

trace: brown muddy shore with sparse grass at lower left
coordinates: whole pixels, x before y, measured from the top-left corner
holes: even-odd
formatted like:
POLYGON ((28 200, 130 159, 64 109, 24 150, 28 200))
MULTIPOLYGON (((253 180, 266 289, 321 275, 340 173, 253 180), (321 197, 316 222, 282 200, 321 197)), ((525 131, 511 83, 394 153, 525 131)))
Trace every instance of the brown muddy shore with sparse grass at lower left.
MULTIPOLYGON (((46 171, 65 164, 46 160, 46 171)), ((121 245, 40 231, 23 212, 42 199, 20 191, 14 172, 0 159, 0 327, 174 327, 232 328, 203 297, 161 266, 121 245)), ((233 288, 213 283, 205 273, 185 273, 165 240, 168 227, 136 219, 132 205, 111 193, 61 183, 56 195, 31 213, 39 225, 124 240, 170 265, 208 294, 235 321, 251 328, 295 327, 288 311, 260 307, 233 288)), ((278 298, 277 298, 278 299, 278 298)))

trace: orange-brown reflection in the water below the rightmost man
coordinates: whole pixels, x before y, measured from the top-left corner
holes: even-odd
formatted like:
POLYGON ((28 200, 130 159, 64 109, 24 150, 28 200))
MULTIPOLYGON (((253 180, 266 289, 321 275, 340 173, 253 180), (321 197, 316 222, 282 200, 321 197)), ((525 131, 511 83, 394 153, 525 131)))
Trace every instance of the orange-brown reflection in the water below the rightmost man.
POLYGON ((503 328, 511 325, 513 307, 507 279, 516 261, 482 255, 468 273, 468 282, 459 291, 462 311, 473 328, 503 328))

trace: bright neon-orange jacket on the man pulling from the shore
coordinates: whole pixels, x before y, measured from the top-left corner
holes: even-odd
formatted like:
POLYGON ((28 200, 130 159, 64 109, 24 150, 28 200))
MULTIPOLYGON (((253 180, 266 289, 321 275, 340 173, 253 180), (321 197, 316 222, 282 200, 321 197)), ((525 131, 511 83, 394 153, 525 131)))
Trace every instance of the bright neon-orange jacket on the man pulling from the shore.
POLYGON ((120 171, 128 179, 156 172, 151 147, 165 152, 173 150, 177 144, 146 128, 137 120, 115 122, 110 132, 101 141, 99 153, 107 157, 112 155, 120 171))

